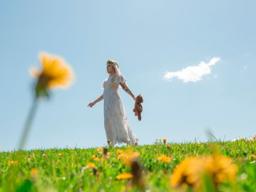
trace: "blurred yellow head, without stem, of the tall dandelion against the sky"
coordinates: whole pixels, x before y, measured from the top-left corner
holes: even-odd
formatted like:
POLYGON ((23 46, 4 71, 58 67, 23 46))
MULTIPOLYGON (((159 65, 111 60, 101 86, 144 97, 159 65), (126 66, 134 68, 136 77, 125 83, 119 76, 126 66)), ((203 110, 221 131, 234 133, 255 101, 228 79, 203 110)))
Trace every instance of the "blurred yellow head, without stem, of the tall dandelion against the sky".
POLYGON ((32 67, 30 74, 38 79, 36 96, 48 96, 47 89, 68 88, 74 79, 72 69, 64 59, 48 53, 40 53, 41 71, 32 67))

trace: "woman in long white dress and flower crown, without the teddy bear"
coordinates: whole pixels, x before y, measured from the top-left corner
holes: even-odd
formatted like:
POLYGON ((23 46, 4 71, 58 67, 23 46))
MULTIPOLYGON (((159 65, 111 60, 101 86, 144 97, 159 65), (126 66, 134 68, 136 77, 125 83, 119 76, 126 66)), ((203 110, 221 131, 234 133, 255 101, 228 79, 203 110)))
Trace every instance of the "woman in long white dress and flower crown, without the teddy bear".
POLYGON ((116 144, 122 143, 137 146, 139 138, 132 133, 124 105, 118 93, 119 85, 134 100, 136 97, 128 89, 126 79, 120 74, 116 61, 107 61, 107 73, 109 77, 102 83, 102 89, 104 89, 103 94, 92 103, 89 103, 88 106, 93 107, 96 103, 104 99, 104 127, 107 140, 110 141, 110 146, 116 146, 116 144))

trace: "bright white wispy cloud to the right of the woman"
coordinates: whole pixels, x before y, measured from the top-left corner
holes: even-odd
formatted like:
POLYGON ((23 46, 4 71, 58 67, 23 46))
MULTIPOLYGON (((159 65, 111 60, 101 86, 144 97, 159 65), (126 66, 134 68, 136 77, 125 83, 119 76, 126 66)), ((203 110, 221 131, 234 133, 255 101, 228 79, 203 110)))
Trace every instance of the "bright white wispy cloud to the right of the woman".
POLYGON ((184 83, 189 81, 200 81, 202 80, 203 75, 208 75, 211 73, 212 68, 210 66, 215 65, 215 63, 219 60, 220 57, 213 57, 209 63, 204 63, 204 61, 201 61, 199 65, 188 66, 180 71, 167 71, 163 79, 171 81, 173 77, 177 77, 178 79, 182 79, 184 83))

